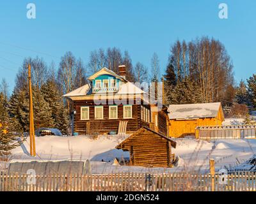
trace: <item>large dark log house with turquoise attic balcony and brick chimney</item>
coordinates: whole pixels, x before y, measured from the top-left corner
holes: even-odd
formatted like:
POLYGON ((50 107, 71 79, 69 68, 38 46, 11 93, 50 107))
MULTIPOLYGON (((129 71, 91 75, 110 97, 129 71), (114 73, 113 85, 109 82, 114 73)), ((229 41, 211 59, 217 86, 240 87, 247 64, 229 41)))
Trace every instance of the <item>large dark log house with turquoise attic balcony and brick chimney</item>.
POLYGON ((119 73, 102 68, 88 78, 89 83, 64 97, 74 105, 74 132, 133 133, 143 126, 167 135, 167 107, 159 109, 148 101, 147 93, 119 73))

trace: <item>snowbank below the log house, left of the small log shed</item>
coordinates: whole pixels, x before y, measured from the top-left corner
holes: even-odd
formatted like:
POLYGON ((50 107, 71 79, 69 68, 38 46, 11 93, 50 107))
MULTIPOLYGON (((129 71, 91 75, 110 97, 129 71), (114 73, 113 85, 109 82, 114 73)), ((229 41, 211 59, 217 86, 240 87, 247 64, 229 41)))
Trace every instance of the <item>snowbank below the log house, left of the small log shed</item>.
MULTIPOLYGON (((113 159, 122 157, 122 150, 115 146, 122 140, 117 135, 101 135, 99 139, 93 140, 90 136, 40 136, 35 137, 36 153, 35 159, 113 159)), ((33 159, 29 155, 29 138, 12 152, 13 159, 33 159)))

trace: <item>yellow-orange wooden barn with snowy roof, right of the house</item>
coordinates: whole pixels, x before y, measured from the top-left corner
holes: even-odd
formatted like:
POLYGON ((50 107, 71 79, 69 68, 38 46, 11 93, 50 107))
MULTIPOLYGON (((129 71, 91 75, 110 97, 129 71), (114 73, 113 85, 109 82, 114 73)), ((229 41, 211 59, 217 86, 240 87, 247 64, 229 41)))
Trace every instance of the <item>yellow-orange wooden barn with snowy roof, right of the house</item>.
POLYGON ((221 126, 224 119, 221 103, 196 103, 168 107, 169 136, 195 135, 197 126, 221 126))

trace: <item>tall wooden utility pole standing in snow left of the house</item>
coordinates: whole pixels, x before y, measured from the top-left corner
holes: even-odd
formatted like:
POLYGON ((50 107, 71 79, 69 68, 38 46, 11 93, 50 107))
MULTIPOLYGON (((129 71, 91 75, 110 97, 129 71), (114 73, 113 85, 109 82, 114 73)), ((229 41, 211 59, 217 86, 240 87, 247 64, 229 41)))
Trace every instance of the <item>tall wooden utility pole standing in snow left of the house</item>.
POLYGON ((29 139, 30 139, 30 154, 36 156, 35 144, 35 129, 34 129, 34 113, 33 113, 33 98, 31 87, 31 65, 28 64, 28 84, 29 84, 29 139))

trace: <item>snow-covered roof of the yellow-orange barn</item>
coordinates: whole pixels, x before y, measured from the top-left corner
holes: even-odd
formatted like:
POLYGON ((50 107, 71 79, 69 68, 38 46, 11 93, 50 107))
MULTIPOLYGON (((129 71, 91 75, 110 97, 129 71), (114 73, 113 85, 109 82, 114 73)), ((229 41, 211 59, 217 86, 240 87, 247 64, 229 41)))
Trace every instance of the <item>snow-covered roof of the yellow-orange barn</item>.
POLYGON ((184 105, 169 105, 169 119, 195 119, 216 117, 221 103, 196 103, 184 105))

